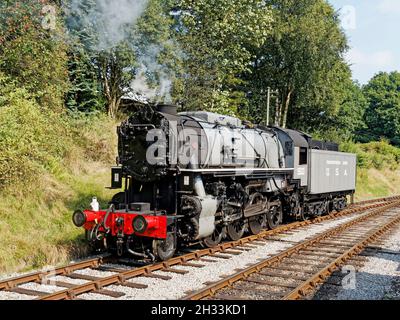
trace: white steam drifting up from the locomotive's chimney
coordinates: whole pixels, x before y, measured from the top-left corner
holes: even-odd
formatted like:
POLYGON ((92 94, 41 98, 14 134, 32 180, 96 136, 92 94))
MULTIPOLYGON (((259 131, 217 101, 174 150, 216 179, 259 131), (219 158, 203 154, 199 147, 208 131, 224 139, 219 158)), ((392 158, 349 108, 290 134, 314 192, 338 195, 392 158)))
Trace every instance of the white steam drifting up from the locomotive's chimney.
POLYGON ((108 51, 124 43, 136 53, 138 67, 126 67, 135 72, 135 79, 125 88, 127 97, 169 103, 172 80, 170 70, 159 63, 163 44, 149 44, 139 50, 135 39, 138 19, 148 7, 149 0, 71 0, 69 17, 79 31, 89 35, 86 45, 92 51, 108 51), (140 52, 138 52, 140 51, 140 52))

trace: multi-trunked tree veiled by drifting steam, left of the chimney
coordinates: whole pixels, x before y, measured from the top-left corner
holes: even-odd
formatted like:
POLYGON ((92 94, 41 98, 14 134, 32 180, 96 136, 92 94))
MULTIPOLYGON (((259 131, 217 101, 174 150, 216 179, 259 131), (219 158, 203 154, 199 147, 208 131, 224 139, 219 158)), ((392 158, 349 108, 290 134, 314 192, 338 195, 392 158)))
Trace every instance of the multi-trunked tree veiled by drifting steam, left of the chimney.
MULTIPOLYGON (((68 28, 85 49, 111 117, 117 115, 125 94, 140 91, 135 84, 157 87, 165 82, 168 64, 174 61, 167 41, 173 19, 165 1, 70 1, 68 28)), ((81 85, 76 84, 78 91, 81 85)))

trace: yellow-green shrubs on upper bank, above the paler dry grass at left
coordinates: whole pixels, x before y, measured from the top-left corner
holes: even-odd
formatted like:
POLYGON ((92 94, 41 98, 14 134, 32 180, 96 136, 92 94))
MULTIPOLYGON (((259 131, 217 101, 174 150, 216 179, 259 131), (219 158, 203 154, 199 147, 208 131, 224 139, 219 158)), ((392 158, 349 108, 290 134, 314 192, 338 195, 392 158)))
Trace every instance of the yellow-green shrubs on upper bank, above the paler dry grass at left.
POLYGON ((55 113, 0 74, 0 190, 30 185, 40 174, 69 170, 68 160, 114 157, 112 121, 105 115, 55 113))

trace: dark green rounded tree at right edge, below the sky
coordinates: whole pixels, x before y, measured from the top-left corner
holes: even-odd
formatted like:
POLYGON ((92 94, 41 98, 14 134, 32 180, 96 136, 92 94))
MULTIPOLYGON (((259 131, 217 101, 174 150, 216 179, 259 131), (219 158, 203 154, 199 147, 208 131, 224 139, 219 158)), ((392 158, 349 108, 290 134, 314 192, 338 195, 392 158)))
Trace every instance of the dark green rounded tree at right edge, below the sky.
POLYGON ((400 145, 400 72, 380 72, 363 87, 368 102, 365 112, 367 129, 361 140, 387 138, 400 145))

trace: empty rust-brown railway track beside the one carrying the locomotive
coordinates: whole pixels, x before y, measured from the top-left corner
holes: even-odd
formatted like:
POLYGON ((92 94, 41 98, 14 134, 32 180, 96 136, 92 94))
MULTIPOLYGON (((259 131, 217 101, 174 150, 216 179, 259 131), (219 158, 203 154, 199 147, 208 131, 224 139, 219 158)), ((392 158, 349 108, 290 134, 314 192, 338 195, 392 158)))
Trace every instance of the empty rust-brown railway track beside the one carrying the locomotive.
POLYGON ((185 297, 296 300, 400 223, 400 201, 375 209, 185 297))

